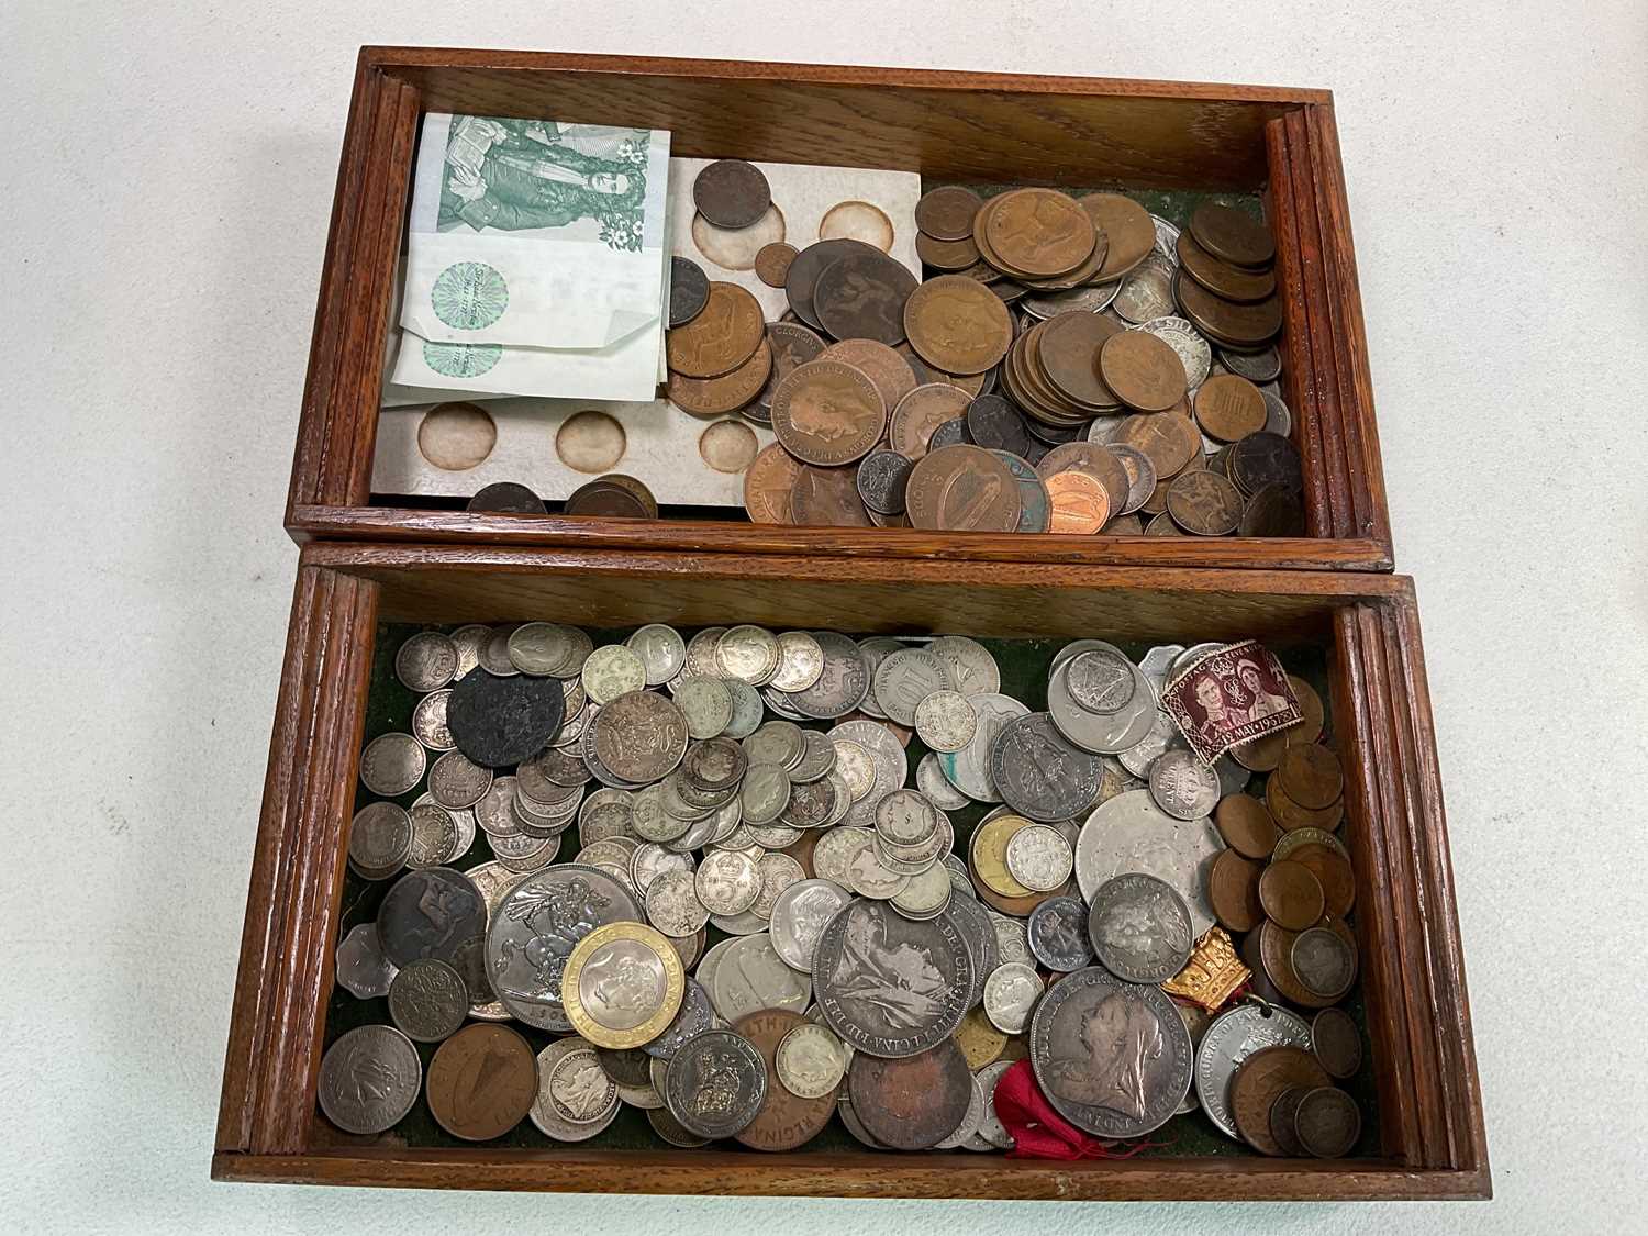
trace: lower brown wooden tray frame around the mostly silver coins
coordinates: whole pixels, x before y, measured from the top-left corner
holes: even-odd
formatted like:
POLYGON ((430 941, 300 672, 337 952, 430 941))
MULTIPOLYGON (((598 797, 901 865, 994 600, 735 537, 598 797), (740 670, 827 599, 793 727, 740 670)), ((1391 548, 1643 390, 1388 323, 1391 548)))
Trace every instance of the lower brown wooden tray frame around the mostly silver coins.
POLYGON ((1485 1198, 1442 791, 1406 577, 313 542, 298 567, 213 1175, 348 1185, 969 1198, 1485 1198), (954 1154, 396 1149, 315 1107, 379 621, 738 621, 1218 639, 1325 653, 1381 1154, 1051 1163, 954 1154))

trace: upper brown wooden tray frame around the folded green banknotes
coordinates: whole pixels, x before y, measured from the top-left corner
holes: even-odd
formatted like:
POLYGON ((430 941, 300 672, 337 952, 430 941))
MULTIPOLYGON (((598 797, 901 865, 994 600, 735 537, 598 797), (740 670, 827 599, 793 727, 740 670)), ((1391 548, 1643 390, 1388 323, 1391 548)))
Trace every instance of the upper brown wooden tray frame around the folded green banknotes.
POLYGON ((321 270, 287 529, 300 541, 1389 570, 1391 527, 1332 96, 1269 86, 364 48, 321 270), (1284 392, 1304 456, 1310 536, 1004 536, 374 504, 384 336, 424 110, 669 129, 672 155, 897 168, 933 183, 1262 194, 1276 232, 1284 392))

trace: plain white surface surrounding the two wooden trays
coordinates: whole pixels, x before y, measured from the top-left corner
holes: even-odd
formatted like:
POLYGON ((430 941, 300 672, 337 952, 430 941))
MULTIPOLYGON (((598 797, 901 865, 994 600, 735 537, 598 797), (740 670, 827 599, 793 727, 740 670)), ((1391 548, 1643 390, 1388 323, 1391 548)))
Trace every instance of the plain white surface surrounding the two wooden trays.
POLYGON ((0 1228, 1613 1231, 1641 1221, 1648 16, 1533 5, 0 8, 0 1228), (613 1200, 208 1182, 361 43, 1335 91, 1498 1200, 613 1200), (1516 564, 1526 562, 1526 569, 1516 564))

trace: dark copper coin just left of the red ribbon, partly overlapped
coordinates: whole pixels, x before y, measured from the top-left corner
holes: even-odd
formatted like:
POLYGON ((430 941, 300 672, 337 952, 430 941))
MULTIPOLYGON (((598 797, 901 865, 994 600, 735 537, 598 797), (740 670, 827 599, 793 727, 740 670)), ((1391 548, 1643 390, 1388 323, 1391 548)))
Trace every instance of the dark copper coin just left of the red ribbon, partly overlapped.
POLYGON ((875 1140, 895 1150, 926 1150, 966 1117, 972 1073, 954 1038, 900 1060, 855 1051, 847 1094, 875 1140))

